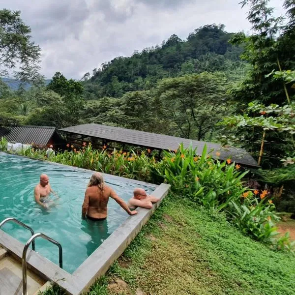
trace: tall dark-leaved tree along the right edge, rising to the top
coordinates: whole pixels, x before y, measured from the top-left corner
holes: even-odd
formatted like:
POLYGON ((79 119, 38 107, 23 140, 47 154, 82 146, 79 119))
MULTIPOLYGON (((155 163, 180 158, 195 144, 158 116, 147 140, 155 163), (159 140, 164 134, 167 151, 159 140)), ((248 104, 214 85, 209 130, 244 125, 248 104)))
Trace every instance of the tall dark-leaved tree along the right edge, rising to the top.
MULTIPOLYGON (((260 117, 260 114, 253 113, 249 109, 249 103, 263 103, 265 107, 276 104, 283 107, 291 104, 295 95, 293 83, 290 83, 292 75, 288 75, 292 71, 287 71, 295 68, 294 32, 292 34, 288 26, 282 26, 281 17, 273 17, 273 8, 268 7, 268 2, 242 1, 242 5, 250 5, 248 20, 252 24, 253 34, 246 36, 238 33, 232 39, 235 44, 244 44, 241 58, 248 61, 252 67, 248 77, 231 92, 238 102, 238 112, 253 118, 260 117), (289 77, 289 80, 286 80, 286 77, 289 77)), ((286 3, 291 5, 289 0, 285 1, 285 6, 286 3)), ((292 7, 295 8, 294 1, 292 5, 289 6, 290 11, 292 7)), ((292 23, 294 16, 289 13, 289 23, 292 23)), ((292 156, 295 152, 292 133, 286 135, 277 130, 245 124, 236 130, 235 138, 241 147, 252 152, 257 158, 262 157, 261 164, 264 168, 280 166, 280 159, 292 156)))

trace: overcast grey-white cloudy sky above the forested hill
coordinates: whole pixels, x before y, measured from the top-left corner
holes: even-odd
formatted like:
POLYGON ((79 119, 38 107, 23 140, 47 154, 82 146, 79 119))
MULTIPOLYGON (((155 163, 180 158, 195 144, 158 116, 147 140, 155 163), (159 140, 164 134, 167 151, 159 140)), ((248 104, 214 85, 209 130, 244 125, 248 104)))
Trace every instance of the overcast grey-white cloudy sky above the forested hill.
MULTIPOLYGON (((0 0, 20 10, 42 49, 41 73, 60 71, 80 79, 86 72, 134 50, 161 44, 172 34, 181 39, 207 24, 225 24, 229 32, 249 31, 247 8, 240 0, 0 0)), ((271 0, 282 14, 283 0, 271 0)))

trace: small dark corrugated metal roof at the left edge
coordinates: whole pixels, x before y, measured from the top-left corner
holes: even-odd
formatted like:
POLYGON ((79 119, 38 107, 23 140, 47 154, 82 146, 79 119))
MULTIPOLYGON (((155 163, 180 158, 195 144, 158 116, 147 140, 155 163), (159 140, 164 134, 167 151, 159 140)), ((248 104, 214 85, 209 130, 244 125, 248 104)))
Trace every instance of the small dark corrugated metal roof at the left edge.
POLYGON ((46 145, 55 130, 56 127, 50 126, 15 126, 9 130, 0 128, 0 137, 5 137, 9 142, 46 145))

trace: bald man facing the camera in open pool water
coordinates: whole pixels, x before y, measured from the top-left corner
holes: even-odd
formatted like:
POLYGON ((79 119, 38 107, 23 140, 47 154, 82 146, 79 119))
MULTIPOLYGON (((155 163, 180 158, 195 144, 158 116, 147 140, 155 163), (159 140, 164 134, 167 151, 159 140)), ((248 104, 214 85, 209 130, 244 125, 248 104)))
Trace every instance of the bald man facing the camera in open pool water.
MULTIPOLYGON (((56 192, 51 188, 49 184, 49 177, 46 174, 40 175, 40 182, 35 186, 34 189, 34 197, 36 203, 38 203, 40 206, 42 206, 45 209, 49 208, 49 195, 50 193, 53 193, 57 198, 59 196, 56 194, 56 192)), ((50 202, 53 204, 53 202, 50 202)))

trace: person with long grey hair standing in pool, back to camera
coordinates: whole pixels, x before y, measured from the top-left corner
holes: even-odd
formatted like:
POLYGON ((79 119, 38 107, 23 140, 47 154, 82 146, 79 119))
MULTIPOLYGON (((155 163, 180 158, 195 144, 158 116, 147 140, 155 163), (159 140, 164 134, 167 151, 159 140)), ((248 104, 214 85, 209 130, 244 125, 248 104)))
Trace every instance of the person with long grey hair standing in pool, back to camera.
POLYGON ((113 198, 129 215, 137 214, 131 211, 127 204, 116 194, 116 192, 104 183, 99 172, 92 174, 85 191, 84 203, 82 205, 82 218, 87 216, 91 220, 103 220, 108 215, 109 198, 113 198))

